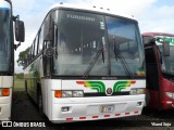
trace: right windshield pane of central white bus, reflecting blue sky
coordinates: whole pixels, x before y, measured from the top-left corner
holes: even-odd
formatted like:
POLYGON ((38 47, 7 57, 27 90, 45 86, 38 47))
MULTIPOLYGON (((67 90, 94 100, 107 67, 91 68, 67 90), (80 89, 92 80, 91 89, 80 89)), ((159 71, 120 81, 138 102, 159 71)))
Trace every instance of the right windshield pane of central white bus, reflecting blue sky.
POLYGON ((135 22, 107 16, 111 75, 145 75, 144 52, 135 22))

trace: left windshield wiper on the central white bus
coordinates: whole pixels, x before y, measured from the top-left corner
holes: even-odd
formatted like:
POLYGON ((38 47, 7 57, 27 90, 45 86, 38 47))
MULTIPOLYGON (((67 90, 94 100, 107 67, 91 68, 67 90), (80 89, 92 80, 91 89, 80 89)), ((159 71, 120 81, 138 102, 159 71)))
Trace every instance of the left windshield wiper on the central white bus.
POLYGON ((102 61, 104 63, 104 52, 103 52, 103 48, 97 51, 96 56, 94 57, 94 60, 90 62, 89 66, 87 67, 86 72, 84 73, 83 78, 87 78, 91 72, 91 69, 94 68, 97 60, 99 58, 100 54, 102 54, 102 61))

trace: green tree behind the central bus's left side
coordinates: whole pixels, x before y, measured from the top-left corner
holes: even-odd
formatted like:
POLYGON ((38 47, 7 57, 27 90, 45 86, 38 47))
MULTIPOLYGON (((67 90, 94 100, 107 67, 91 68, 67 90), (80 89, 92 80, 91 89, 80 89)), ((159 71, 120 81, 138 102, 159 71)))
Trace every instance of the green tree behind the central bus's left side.
POLYGON ((29 47, 25 51, 20 52, 18 60, 17 60, 18 66, 23 66, 23 67, 25 66, 25 58, 27 56, 28 51, 29 51, 29 47))

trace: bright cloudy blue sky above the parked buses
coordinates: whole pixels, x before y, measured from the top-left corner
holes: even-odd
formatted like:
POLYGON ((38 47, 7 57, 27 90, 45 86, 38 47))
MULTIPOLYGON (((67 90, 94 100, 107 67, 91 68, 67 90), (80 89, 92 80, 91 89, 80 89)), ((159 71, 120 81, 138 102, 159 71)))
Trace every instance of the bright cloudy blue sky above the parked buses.
MULTIPOLYGON (((20 52, 32 44, 49 9, 59 2, 102 6, 115 13, 122 11, 136 17, 140 32, 174 34, 174 0, 12 0, 13 15, 20 14, 26 30, 25 42, 15 51, 15 61, 20 52)), ((22 72, 15 62, 15 73, 22 72)))

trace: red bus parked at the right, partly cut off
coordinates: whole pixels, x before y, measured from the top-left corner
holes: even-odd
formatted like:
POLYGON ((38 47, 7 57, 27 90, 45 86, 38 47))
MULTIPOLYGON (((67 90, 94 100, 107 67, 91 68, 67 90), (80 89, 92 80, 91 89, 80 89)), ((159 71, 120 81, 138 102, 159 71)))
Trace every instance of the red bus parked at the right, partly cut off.
POLYGON ((142 34, 147 68, 147 106, 153 109, 174 107, 174 35, 142 34))

